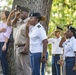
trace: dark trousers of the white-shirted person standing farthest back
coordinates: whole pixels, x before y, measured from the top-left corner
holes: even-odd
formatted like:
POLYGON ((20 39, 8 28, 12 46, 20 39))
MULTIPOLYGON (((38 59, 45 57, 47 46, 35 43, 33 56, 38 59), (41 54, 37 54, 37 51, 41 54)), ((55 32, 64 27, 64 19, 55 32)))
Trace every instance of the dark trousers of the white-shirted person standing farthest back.
POLYGON ((60 54, 52 55, 52 75, 60 74, 60 65, 58 61, 60 60, 60 54))

